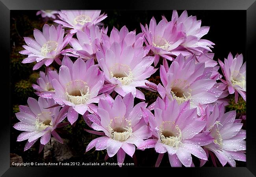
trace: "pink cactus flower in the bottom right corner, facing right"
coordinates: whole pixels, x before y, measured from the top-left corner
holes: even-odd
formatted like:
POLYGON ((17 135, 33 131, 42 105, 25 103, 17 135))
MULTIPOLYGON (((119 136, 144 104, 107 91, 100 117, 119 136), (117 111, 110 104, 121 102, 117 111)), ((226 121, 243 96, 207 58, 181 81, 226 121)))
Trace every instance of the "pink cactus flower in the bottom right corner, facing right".
MULTIPOLYGON (((236 111, 224 113, 224 105, 215 105, 214 110, 210 113, 208 107, 205 110, 203 120, 206 121, 204 131, 210 131, 210 135, 214 138, 211 144, 204 146, 207 154, 212 159, 213 152, 224 166, 226 163, 235 167, 235 160, 246 161, 246 131, 242 130, 243 124, 241 120, 235 120, 236 111), (211 151, 211 152, 210 152, 211 151)), ((205 164, 205 160, 201 160, 200 166, 205 164)), ((216 164, 214 163, 216 166, 216 164)))

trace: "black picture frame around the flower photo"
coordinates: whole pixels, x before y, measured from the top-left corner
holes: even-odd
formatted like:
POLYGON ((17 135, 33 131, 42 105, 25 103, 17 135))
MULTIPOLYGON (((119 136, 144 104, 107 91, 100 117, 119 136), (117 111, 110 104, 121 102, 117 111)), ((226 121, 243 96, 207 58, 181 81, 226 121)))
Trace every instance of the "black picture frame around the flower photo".
MULTIPOLYGON (((140 0, 140 1, 87 1, 87 0, 1 0, 0 3, 0 21, 1 21, 1 54, 5 54, 1 59, 1 81, 2 81, 2 121, 0 129, 0 175, 3 176, 77 176, 79 173, 83 175, 89 175, 90 173, 100 173, 118 175, 126 171, 126 174, 131 173, 133 175, 134 168, 109 168, 109 167, 10 167, 9 165, 9 142, 10 142, 10 117, 11 107, 8 106, 8 101, 11 92, 7 87, 10 85, 9 77, 11 76, 9 70, 9 57, 10 57, 10 11, 11 10, 35 10, 35 9, 134 9, 134 10, 167 10, 167 9, 187 9, 187 10, 245 10, 246 11, 246 24, 247 24, 247 41, 246 41, 246 53, 247 59, 247 78, 249 81, 254 81, 253 66, 255 42, 256 42, 256 2, 255 0, 140 0), (251 74, 252 73, 252 74, 251 74), (9 77, 7 77, 9 75, 9 77), (8 97, 8 96, 9 97, 8 97), (9 109, 8 109, 9 108, 9 109), (7 111, 9 110, 9 112, 7 111), (47 169, 46 169, 47 168, 47 169), (132 170, 131 170, 132 169, 132 170), (127 173, 128 172, 128 173, 127 173), (88 174, 87 174, 88 173, 88 174)), ((239 27, 239 22, 237 22, 239 27)), ((235 36, 234 36, 235 37, 235 36)), ((174 175, 177 173, 179 176, 185 175, 197 175, 199 176, 245 176, 251 177, 256 175, 256 136, 254 133, 255 118, 253 115, 253 103, 250 103, 254 99, 254 88, 250 87, 252 83, 247 83, 247 162, 246 167, 237 168, 136 168, 136 170, 142 170, 146 173, 156 172, 159 175, 174 175), (163 171, 164 170, 164 171, 163 171)))

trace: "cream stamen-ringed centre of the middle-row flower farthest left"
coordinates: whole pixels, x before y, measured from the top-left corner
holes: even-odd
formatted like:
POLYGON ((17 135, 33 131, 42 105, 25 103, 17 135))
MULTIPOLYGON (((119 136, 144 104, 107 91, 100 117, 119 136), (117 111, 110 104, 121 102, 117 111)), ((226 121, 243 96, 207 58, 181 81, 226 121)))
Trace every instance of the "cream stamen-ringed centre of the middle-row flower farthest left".
POLYGON ((74 80, 66 85, 66 99, 74 104, 83 104, 90 99, 90 89, 85 81, 74 80))

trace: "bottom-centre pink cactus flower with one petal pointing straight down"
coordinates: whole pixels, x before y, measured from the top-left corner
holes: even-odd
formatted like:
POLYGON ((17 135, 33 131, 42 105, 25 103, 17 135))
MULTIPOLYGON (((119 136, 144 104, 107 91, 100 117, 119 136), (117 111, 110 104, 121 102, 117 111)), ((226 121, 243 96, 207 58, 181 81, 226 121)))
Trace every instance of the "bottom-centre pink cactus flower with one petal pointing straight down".
POLYGON ((151 137, 152 133, 145 123, 141 108, 146 108, 147 103, 141 102, 134 106, 134 97, 131 93, 117 96, 115 100, 100 100, 97 114, 88 114, 93 124, 91 127, 103 131, 105 136, 92 140, 86 147, 89 151, 107 149, 109 157, 117 154, 119 166, 122 166, 125 155, 133 157, 135 146, 143 143, 143 139, 151 137))

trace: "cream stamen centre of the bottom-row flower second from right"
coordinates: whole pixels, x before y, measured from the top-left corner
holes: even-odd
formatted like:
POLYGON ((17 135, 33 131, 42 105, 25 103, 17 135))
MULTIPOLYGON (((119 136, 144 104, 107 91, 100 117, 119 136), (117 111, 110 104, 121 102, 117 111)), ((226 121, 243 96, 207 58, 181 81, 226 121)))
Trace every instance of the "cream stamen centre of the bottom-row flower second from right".
MULTIPOLYGON (((163 122, 164 123, 170 123, 170 122, 163 122)), ((166 144, 171 147, 178 148, 180 144, 182 144, 182 133, 180 130, 180 127, 178 125, 175 126, 176 133, 173 133, 172 131, 160 129, 160 140, 161 143, 166 144), (176 135, 176 136, 175 136, 176 135)))

